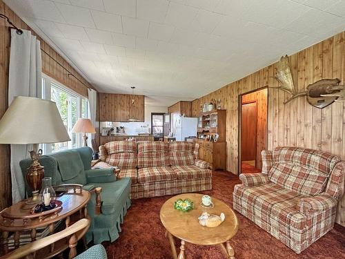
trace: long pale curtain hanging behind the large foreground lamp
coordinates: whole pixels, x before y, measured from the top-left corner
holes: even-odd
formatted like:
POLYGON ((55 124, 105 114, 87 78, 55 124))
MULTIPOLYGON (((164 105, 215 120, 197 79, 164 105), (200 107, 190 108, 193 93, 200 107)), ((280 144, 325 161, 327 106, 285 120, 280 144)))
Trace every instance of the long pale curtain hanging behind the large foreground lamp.
MULTIPOLYGON (((17 34, 11 30, 10 68, 8 75, 8 105, 15 96, 41 97, 41 48, 30 30, 17 34)), ((30 111, 28 111, 30 112, 30 111)), ((23 125, 23 131, 25 131, 23 125)), ((19 161, 30 157, 32 145, 11 145, 12 201, 25 198, 25 184, 19 161)))

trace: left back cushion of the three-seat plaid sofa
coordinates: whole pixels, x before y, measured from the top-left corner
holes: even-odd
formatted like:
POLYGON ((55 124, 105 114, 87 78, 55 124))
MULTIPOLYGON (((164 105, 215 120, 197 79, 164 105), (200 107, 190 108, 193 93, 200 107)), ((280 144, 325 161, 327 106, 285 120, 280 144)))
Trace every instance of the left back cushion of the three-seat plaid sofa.
POLYGON ((106 163, 119 169, 137 168, 137 142, 114 141, 104 144, 107 151, 106 163))

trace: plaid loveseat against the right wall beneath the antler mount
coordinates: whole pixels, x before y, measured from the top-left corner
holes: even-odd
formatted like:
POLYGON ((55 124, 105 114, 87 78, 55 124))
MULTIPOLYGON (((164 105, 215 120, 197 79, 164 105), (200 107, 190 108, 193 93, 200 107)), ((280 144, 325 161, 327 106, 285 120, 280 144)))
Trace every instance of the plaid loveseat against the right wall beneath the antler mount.
POLYGON ((296 253, 333 228, 345 162, 306 148, 262 151, 262 173, 244 174, 233 207, 296 253))

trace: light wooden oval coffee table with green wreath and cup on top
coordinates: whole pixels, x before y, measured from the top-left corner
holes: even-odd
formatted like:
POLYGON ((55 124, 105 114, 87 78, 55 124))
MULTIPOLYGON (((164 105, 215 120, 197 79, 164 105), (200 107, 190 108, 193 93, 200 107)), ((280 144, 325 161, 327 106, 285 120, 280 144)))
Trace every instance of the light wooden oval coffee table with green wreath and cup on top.
POLYGON ((212 198, 215 207, 205 209, 201 207, 201 197, 202 194, 199 193, 184 193, 170 198, 161 207, 161 222, 166 228, 166 237, 169 239, 173 258, 177 259, 175 243, 172 237, 175 236, 181 240, 178 259, 185 258, 184 249, 186 242, 199 245, 219 244, 221 251, 224 252, 227 258, 235 259, 235 252, 230 245, 230 239, 237 233, 239 223, 234 211, 216 198, 212 198), (182 200, 186 198, 193 200, 194 209, 188 212, 174 209, 174 202, 179 198, 182 200), (203 227, 199 224, 198 217, 204 211, 215 215, 220 215, 223 212, 225 220, 218 227, 203 227), (226 243, 225 246, 224 243, 226 243))

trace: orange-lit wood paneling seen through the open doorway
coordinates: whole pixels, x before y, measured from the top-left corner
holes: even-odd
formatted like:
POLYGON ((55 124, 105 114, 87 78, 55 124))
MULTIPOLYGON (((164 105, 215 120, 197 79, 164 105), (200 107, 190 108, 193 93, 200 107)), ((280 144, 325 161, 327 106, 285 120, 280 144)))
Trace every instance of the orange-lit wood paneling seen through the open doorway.
POLYGON ((267 146, 267 94, 268 89, 265 88, 242 95, 242 103, 257 102, 257 164, 255 166, 259 169, 262 169, 261 151, 267 146))

